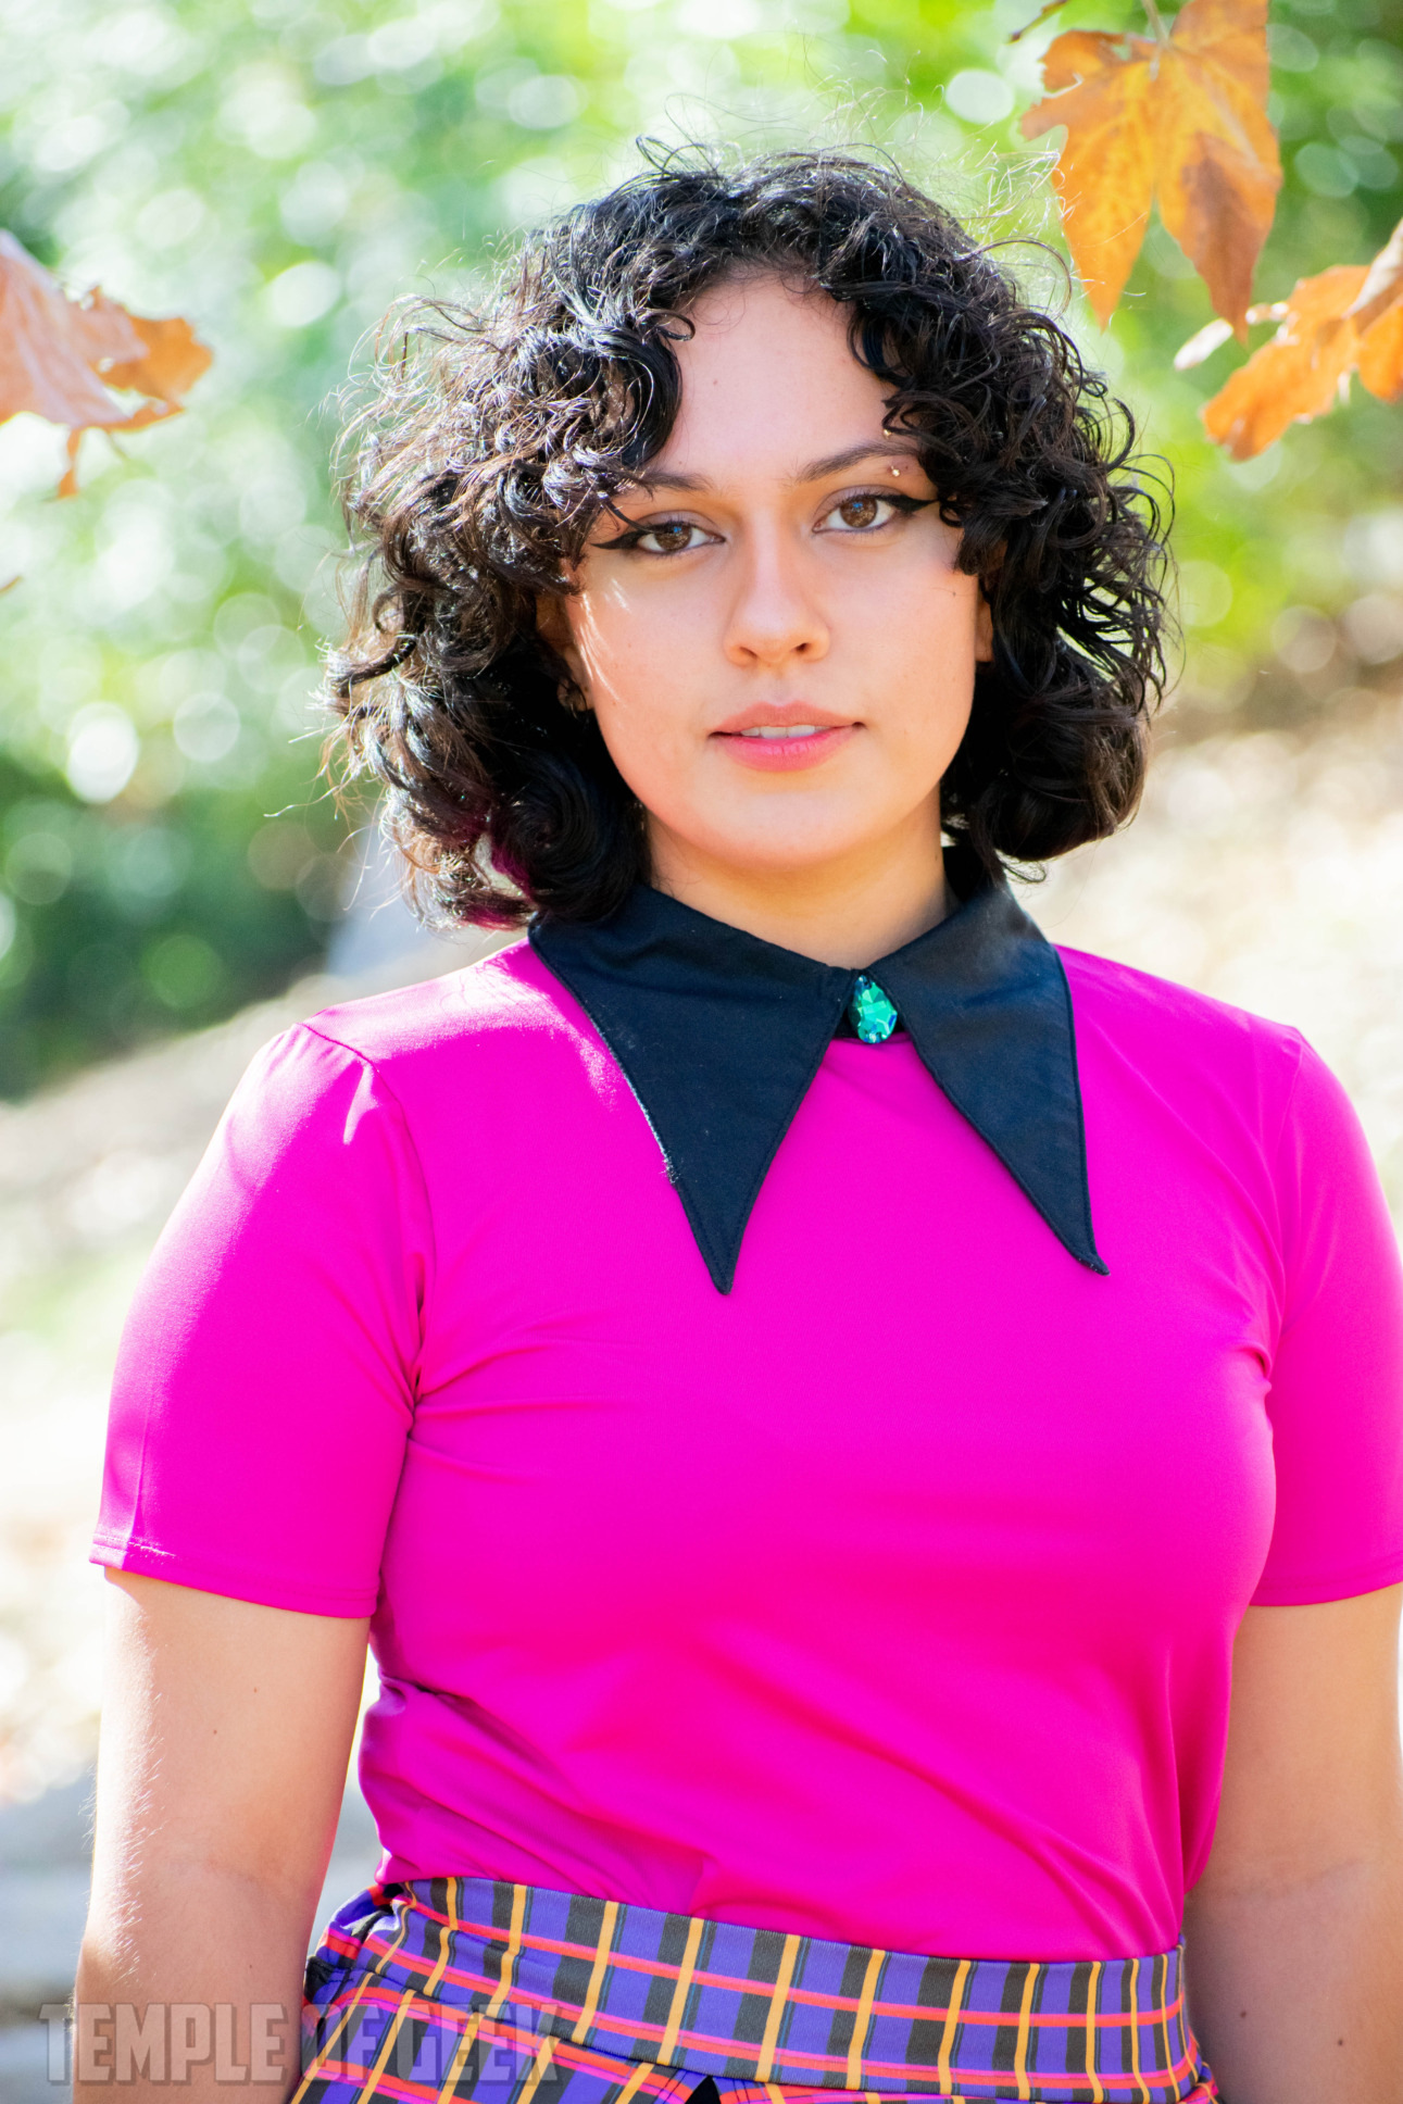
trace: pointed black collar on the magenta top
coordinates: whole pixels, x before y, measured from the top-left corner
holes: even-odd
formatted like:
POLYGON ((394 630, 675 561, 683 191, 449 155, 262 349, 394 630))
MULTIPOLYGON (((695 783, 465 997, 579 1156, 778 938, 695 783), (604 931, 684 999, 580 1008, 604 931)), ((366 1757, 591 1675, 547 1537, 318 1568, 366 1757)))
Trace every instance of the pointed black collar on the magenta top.
MULTIPOLYGON (((867 976, 1058 1241, 1104 1273, 1062 959, 1008 884, 949 850, 947 867, 961 905, 867 976)), ((646 884, 608 919, 538 919, 530 940, 618 1060, 707 1269, 730 1292, 759 1187, 858 972, 776 949, 646 884)))

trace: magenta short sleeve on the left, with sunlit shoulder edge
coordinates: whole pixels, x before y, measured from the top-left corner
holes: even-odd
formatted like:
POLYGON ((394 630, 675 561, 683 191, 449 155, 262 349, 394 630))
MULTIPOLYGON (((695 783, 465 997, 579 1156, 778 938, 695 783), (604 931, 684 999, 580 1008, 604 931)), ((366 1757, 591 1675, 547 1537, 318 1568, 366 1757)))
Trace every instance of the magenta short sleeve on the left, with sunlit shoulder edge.
POLYGON ((137 1290, 93 1561, 372 1614, 429 1267, 387 1084, 307 1025, 273 1039, 137 1290))

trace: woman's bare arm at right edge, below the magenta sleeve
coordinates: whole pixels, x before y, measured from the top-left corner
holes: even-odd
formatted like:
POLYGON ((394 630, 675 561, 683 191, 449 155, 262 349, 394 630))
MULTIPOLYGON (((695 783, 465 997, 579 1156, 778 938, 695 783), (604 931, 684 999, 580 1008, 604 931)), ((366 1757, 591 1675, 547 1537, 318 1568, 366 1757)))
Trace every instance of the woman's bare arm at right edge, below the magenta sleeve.
POLYGON ((1403 1586, 1249 1607, 1188 1997, 1226 2104, 1401 2104, 1403 1586))

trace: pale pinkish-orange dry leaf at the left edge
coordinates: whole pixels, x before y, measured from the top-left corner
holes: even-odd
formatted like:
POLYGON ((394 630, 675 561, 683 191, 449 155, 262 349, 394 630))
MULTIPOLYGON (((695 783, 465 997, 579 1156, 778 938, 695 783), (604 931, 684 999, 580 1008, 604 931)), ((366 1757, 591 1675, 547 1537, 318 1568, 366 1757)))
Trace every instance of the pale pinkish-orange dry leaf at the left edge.
POLYGON ((99 290, 69 299, 53 271, 0 229, 0 423, 29 410, 69 427, 59 497, 78 486, 84 431, 139 431, 177 417, 208 364, 189 322, 128 313, 99 290), (130 408, 111 387, 147 400, 130 408))

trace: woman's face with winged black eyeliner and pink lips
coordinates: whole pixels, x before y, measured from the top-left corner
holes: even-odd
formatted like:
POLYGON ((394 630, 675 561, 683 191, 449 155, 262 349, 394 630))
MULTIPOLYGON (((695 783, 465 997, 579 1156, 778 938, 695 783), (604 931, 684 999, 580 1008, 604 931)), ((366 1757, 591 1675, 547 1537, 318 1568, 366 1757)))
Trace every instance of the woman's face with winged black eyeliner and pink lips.
POLYGON ((940 776, 989 656, 915 446, 846 311, 774 278, 707 295, 682 408, 543 621, 648 810, 654 882, 873 856, 940 877, 940 776))

